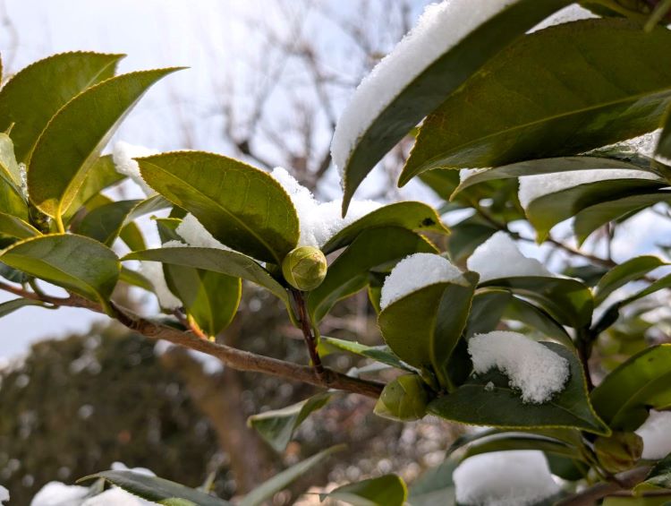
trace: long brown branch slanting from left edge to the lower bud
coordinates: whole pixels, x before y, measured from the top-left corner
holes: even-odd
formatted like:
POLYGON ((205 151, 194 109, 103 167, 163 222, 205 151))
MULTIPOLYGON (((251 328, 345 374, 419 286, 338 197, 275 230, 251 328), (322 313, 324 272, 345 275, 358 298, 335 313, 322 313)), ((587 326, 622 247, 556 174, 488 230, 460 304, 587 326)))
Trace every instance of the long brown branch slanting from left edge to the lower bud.
MULTIPOLYGON (((41 300, 42 302, 47 302, 49 304, 81 307, 96 313, 104 313, 99 304, 74 294, 66 298, 39 296, 28 290, 13 287, 3 282, 0 282, 0 289, 16 296, 41 300)), ((157 322, 152 322, 145 318, 140 318, 115 304, 112 305, 115 309, 116 320, 123 323, 123 325, 129 329, 150 339, 165 339, 175 345, 188 347, 207 355, 216 356, 225 365, 236 369, 237 371, 270 374, 295 382, 308 383, 320 388, 358 393, 373 399, 377 399, 384 388, 382 383, 361 380, 360 378, 352 378, 351 376, 338 373, 331 369, 327 369, 326 367, 323 369, 322 376, 319 377, 319 374, 315 369, 310 366, 292 364, 290 362, 285 362, 284 360, 256 355, 234 347, 217 344, 207 339, 200 339, 194 336, 191 332, 184 332, 157 322)))

